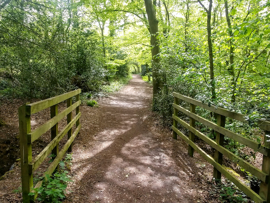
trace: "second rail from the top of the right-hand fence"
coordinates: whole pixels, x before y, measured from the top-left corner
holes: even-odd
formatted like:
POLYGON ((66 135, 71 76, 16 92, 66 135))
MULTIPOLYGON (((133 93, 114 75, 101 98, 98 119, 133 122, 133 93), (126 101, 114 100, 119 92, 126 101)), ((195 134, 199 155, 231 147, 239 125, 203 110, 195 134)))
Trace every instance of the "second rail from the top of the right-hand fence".
POLYGON ((178 105, 173 104, 173 107, 178 109, 179 111, 181 111, 182 113, 194 118, 195 120, 201 122, 204 125, 207 125, 208 127, 214 129, 216 132, 219 132, 231 139, 234 139, 235 141, 242 143, 243 145, 246 145, 252 149, 254 149, 255 151, 259 151, 264 155, 268 155, 269 154, 269 148, 265 147, 264 145, 261 145, 259 143, 256 143, 248 138, 244 138, 241 135, 238 135, 237 133, 230 131, 226 128, 223 128, 221 126, 218 126, 216 123, 211 122, 201 116, 198 116, 196 114, 190 113, 188 110, 184 109, 183 107, 180 107, 178 105))

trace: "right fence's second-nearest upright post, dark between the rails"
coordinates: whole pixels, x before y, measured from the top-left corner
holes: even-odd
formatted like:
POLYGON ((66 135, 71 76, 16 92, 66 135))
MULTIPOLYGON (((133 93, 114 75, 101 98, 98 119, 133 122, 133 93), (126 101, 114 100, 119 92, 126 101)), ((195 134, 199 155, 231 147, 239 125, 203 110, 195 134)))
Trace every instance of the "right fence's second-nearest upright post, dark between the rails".
MULTIPOLYGON (((225 120, 226 117, 217 114, 217 122, 216 124, 218 126, 224 127, 225 126, 225 120)), ((216 132, 216 144, 223 146, 224 144, 224 135, 220 134, 219 132, 216 132)), ((220 153, 218 150, 215 150, 214 159, 216 162, 218 162, 222 166, 222 153, 220 153)), ((214 167, 213 177, 215 179, 221 179, 221 173, 214 167)))

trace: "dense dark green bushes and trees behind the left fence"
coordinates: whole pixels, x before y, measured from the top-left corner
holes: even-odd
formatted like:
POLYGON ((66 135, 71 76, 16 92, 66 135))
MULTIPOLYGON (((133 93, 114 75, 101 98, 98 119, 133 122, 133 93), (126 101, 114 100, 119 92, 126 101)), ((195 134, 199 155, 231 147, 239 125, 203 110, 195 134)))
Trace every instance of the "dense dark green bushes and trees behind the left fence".
POLYGON ((81 11, 80 2, 57 0, 10 1, 0 9, 1 24, 8 25, 0 29, 1 98, 48 98, 78 87, 100 91, 116 74, 129 73, 121 51, 103 56, 95 22, 78 17, 81 11))

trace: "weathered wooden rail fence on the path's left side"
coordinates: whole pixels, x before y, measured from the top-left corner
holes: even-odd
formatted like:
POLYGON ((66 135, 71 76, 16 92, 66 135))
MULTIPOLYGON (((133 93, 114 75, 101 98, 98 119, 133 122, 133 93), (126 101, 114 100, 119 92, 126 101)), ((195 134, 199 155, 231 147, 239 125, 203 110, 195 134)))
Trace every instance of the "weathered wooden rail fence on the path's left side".
POLYGON ((81 89, 77 89, 59 96, 55 96, 46 100, 38 101, 31 104, 25 104, 19 108, 19 122, 20 122, 20 151, 21 151, 21 168, 22 168, 22 190, 23 202, 29 203, 36 199, 37 193, 32 190, 39 188, 42 185, 42 180, 33 186, 33 173, 40 166, 40 164, 52 152, 55 155, 54 161, 47 168, 46 174, 53 174, 59 162, 63 158, 65 152, 72 149, 72 142, 79 133, 81 128, 80 124, 80 93, 81 89), (72 104, 72 98, 75 96, 76 102, 72 104), (58 114, 58 104, 62 101, 67 102, 67 108, 58 114), (40 112, 44 109, 51 108, 51 119, 31 130, 32 114, 40 112), (72 119, 72 111, 76 109, 76 115, 72 119), (58 132, 58 122, 67 116, 67 125, 61 132, 58 132), (76 130, 72 133, 72 126, 76 124, 76 130), (41 135, 51 129, 51 139, 47 145, 36 157, 32 157, 32 143, 37 140, 41 135), (59 142, 64 135, 68 135, 68 141, 59 151, 59 142), (34 196, 28 196, 30 192, 35 193, 34 196))

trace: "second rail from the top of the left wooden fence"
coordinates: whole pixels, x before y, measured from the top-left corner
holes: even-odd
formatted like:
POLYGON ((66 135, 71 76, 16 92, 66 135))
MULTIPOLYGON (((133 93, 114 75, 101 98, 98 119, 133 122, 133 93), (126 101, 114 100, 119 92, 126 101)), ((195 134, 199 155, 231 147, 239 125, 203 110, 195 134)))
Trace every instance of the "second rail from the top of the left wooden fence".
POLYGON ((40 127, 36 128, 35 130, 28 133, 28 143, 34 142, 36 139, 38 139, 41 135, 43 135, 45 132, 47 132, 49 129, 51 129, 57 122, 59 122, 63 117, 67 116, 70 112, 72 112, 76 107, 81 105, 81 100, 71 105, 69 108, 65 109, 58 115, 54 116, 54 118, 51 118, 46 123, 42 124, 40 127))

